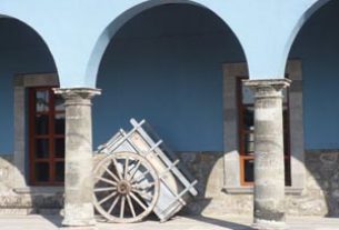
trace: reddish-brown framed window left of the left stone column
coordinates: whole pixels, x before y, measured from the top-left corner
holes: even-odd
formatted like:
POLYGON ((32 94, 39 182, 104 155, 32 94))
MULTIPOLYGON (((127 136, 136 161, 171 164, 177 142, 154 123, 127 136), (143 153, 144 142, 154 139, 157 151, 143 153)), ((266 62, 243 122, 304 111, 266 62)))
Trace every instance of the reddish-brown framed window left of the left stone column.
POLYGON ((30 183, 58 186, 64 180, 64 103, 52 87, 29 88, 30 183))

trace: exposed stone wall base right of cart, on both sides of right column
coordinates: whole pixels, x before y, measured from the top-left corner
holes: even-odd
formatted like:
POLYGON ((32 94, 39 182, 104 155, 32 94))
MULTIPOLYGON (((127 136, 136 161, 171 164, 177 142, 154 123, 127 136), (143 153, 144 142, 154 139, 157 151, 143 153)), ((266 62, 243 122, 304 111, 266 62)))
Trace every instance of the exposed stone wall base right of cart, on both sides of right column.
MULTIPOLYGON (((189 171, 198 179, 199 194, 183 214, 252 216, 252 194, 223 191, 223 153, 180 153, 189 171)), ((306 152, 306 186, 301 194, 286 196, 288 216, 339 217, 339 151, 306 152)))

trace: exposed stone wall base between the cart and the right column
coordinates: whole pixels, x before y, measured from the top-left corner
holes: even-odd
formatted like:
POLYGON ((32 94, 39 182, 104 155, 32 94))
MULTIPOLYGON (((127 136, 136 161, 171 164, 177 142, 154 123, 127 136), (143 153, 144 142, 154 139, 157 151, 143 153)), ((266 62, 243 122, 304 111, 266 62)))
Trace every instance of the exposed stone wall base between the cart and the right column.
POLYGON ((252 213, 252 197, 250 194, 227 194, 223 192, 223 153, 186 152, 179 153, 179 157, 199 181, 199 194, 192 202, 188 203, 183 212, 193 214, 252 213))

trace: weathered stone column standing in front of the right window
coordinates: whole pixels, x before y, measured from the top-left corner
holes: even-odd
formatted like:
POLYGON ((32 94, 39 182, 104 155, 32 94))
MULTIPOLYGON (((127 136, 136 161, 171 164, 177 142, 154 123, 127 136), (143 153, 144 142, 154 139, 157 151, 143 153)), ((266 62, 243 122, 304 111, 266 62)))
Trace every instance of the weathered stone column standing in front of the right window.
POLYGON ((255 91, 255 222, 253 228, 287 229, 282 89, 290 80, 247 80, 255 91))

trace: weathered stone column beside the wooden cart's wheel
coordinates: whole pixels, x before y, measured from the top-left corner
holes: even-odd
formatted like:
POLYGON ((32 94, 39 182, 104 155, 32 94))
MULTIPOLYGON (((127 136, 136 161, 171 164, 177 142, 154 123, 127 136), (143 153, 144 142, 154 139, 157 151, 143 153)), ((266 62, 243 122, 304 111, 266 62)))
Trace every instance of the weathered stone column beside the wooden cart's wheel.
POLYGON ((92 181, 91 99, 98 89, 54 89, 64 98, 64 217, 66 227, 96 224, 92 181))

